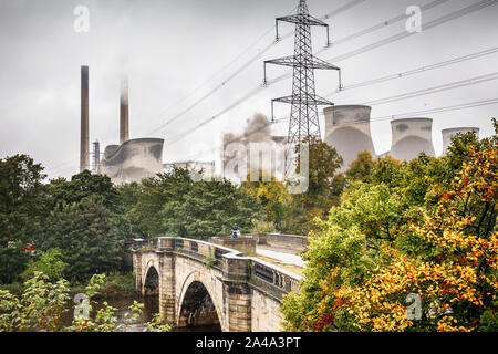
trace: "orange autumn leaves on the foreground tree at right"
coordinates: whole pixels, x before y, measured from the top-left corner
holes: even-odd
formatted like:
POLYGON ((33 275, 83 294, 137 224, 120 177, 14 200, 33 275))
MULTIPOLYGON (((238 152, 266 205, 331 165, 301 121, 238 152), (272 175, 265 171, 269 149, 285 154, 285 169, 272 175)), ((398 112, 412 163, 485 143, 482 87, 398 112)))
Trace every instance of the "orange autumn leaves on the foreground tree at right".
MULTIPOLYGON (((497 159, 496 144, 471 150, 453 190, 440 194, 436 208, 425 211, 421 225, 411 226, 430 247, 432 254, 407 257, 382 246, 380 252, 391 260, 390 264, 378 267, 360 287, 343 284, 332 290, 335 301, 329 311, 345 311, 359 331, 406 331, 417 326, 476 331, 479 314, 496 301, 498 290, 494 217, 497 159), (406 315, 409 293, 422 299, 423 317, 418 322, 406 315)), ((329 321, 320 321, 315 330, 332 323, 330 314, 320 317, 329 321)))

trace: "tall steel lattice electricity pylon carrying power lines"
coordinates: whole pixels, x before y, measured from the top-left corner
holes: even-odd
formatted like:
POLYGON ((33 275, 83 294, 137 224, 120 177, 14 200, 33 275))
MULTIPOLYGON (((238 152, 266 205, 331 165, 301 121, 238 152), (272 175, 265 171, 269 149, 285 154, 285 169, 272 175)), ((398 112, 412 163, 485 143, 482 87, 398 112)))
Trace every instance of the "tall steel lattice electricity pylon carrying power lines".
POLYGON ((309 14, 305 0, 300 0, 297 14, 277 18, 277 41, 279 41, 279 21, 295 24, 294 55, 264 61, 264 85, 268 83, 266 69, 267 64, 293 67, 292 95, 271 101, 272 122, 274 122, 274 102, 291 104, 288 144, 292 147, 300 144, 308 136, 318 136, 318 138, 321 137, 317 106, 333 105, 332 102, 315 94, 313 71, 315 69, 336 70, 339 71, 339 80, 341 81, 341 69, 313 55, 311 45, 311 27, 319 25, 326 28, 326 45, 329 46, 329 24, 309 14))

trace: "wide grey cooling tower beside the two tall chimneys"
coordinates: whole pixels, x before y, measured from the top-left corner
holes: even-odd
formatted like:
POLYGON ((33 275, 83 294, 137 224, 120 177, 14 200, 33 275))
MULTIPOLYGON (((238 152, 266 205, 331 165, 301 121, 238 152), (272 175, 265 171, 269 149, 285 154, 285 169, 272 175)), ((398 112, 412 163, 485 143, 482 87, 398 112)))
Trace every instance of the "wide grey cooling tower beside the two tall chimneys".
POLYGON ((164 139, 142 138, 110 145, 100 163, 100 174, 113 183, 141 181, 163 171, 164 139))

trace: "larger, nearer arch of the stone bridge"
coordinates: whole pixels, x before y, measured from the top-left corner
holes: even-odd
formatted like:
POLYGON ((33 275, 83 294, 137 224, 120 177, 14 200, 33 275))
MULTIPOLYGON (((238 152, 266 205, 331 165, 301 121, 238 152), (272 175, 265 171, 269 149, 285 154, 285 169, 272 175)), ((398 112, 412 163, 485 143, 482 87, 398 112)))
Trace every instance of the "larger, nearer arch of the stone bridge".
POLYGON ((193 271, 185 279, 176 315, 178 326, 219 325, 225 331, 222 306, 208 278, 193 271))

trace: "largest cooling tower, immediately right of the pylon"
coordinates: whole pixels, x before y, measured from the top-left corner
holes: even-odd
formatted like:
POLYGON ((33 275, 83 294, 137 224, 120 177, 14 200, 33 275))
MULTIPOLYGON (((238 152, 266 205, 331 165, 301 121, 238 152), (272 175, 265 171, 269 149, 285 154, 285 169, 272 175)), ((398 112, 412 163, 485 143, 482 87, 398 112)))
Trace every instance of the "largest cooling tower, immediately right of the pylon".
POLYGON ((344 160, 341 173, 345 171, 357 154, 367 150, 375 158, 375 148, 370 132, 372 107, 363 105, 332 106, 325 114, 325 143, 333 146, 344 160))

